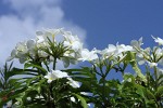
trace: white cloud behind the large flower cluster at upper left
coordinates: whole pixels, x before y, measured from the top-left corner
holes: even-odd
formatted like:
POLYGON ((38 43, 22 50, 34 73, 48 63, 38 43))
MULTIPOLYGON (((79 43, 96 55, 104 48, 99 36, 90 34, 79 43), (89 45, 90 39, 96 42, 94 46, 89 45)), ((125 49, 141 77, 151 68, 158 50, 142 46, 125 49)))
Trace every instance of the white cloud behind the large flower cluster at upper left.
POLYGON ((64 27, 85 41, 86 31, 65 19, 61 0, 3 0, 12 12, 0 15, 0 65, 20 41, 35 37, 42 28, 64 27))

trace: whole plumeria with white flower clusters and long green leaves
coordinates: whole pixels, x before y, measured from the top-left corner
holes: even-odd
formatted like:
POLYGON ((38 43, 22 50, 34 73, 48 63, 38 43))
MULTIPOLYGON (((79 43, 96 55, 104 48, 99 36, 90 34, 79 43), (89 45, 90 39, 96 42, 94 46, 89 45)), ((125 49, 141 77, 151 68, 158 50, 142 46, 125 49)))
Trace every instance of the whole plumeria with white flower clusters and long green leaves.
POLYGON ((152 38, 158 46, 143 49, 140 38, 130 45, 90 51, 62 28, 37 31, 35 39, 17 43, 8 58, 18 59, 24 68, 1 69, 0 106, 162 108, 163 40, 152 38), (89 65, 76 67, 86 62, 89 65), (111 79, 113 72, 118 77, 111 79))

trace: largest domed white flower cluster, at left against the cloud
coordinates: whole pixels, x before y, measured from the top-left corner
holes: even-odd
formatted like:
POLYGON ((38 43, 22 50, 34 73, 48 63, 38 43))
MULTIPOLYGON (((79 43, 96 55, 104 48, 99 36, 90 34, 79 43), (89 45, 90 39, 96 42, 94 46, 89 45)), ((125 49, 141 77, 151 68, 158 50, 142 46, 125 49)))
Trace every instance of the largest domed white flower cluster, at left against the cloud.
MULTIPOLYGON (((18 42, 15 49, 11 52, 11 56, 8 60, 17 58, 21 64, 26 60, 35 60, 38 58, 51 58, 45 49, 50 50, 49 40, 53 43, 61 42, 68 50, 64 52, 60 58, 64 63, 65 67, 68 67, 70 63, 75 64, 79 60, 95 60, 98 58, 97 50, 89 51, 83 48, 83 42, 77 36, 73 36, 72 32, 64 29, 46 29, 36 32, 36 39, 30 39, 24 42, 18 42), (55 37, 63 37, 63 40, 57 41, 55 37)), ((52 52, 52 51, 50 51, 52 52)))

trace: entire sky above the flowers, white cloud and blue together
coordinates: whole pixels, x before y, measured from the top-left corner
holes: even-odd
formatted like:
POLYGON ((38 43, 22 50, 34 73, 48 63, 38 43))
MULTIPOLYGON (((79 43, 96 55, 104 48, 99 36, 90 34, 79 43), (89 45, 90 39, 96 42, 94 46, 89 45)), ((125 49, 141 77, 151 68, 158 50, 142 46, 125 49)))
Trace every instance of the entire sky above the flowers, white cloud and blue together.
POLYGON ((58 27, 77 33, 90 50, 140 37, 145 46, 152 46, 151 35, 163 37, 163 1, 0 0, 0 64, 36 30, 58 27))

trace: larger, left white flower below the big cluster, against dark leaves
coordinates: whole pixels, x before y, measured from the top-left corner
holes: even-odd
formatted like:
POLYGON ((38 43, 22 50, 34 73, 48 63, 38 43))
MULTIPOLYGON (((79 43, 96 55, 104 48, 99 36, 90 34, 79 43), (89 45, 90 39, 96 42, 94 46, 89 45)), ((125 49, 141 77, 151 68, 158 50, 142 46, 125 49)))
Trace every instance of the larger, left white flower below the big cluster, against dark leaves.
POLYGON ((48 75, 45 76, 45 78, 48 79, 48 83, 51 83, 53 80, 66 77, 68 77, 68 75, 61 70, 52 70, 52 72, 48 72, 48 75))

